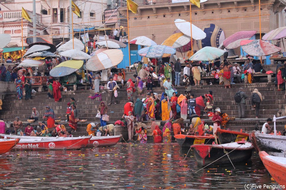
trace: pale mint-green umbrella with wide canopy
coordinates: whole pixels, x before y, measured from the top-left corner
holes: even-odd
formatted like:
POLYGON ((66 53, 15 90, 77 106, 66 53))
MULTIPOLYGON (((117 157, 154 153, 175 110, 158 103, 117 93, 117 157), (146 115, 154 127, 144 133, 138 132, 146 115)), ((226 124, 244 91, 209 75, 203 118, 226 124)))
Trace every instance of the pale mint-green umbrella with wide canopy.
POLYGON ((191 61, 211 61, 219 58, 225 51, 222 49, 206 46, 197 51, 189 60, 191 61))

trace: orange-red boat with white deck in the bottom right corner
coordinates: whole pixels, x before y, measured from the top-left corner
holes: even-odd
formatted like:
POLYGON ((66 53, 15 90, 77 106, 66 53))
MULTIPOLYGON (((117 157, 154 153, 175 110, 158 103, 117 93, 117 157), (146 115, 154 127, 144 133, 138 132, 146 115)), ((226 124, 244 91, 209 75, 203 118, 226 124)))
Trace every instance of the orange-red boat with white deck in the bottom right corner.
POLYGON ((265 151, 260 151, 259 156, 269 174, 280 185, 277 189, 286 189, 286 158, 270 156, 265 151))

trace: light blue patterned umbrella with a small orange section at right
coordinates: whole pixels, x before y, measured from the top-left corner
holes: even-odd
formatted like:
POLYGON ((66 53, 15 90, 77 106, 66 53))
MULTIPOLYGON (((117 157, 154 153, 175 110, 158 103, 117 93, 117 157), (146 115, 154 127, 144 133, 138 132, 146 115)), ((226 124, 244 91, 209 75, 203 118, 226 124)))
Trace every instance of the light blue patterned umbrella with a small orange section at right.
POLYGON ((140 56, 147 58, 160 58, 160 57, 169 57, 176 53, 176 50, 170 46, 149 46, 138 50, 140 56))

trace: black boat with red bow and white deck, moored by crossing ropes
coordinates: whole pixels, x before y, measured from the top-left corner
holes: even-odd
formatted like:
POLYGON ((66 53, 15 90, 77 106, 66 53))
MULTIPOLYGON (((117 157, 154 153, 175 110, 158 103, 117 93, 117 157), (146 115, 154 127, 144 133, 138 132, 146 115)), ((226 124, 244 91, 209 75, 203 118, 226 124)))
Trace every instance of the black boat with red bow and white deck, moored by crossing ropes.
POLYGON ((195 144, 191 147, 194 149, 198 165, 202 167, 208 164, 230 164, 229 158, 226 155, 225 151, 229 153, 228 155, 232 163, 248 160, 251 157, 252 151, 254 149, 250 142, 245 141, 211 145, 195 144))

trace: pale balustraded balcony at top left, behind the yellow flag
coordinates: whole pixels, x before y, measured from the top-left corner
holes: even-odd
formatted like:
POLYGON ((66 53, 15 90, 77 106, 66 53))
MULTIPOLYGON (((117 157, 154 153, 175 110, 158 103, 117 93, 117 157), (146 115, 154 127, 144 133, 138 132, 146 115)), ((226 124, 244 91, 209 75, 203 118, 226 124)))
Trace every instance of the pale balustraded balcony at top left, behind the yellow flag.
MULTIPOLYGON (((29 14, 30 18, 33 19, 33 13, 32 11, 26 10, 29 14)), ((0 21, 16 21, 22 18, 22 10, 8 10, 8 11, 1 11, 2 14, 0 14, 0 21)), ((37 24, 42 23, 42 16, 40 14, 36 14, 36 22, 37 24)))

